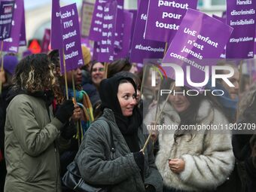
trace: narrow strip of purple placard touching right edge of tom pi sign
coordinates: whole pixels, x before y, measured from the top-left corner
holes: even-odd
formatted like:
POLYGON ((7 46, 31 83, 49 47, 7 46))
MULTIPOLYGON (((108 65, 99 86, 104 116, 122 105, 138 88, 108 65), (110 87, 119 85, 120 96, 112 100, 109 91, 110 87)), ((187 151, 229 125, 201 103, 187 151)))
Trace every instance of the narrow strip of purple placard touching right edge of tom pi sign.
POLYGON ((115 23, 115 32, 114 32, 114 47, 121 49, 122 45, 122 36, 123 36, 123 0, 117 0, 117 20, 115 23))

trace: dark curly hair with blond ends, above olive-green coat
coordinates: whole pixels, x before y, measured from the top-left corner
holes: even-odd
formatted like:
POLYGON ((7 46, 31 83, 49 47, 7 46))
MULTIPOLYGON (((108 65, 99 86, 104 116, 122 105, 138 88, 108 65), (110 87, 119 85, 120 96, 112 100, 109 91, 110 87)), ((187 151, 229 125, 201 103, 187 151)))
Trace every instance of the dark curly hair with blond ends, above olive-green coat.
POLYGON ((14 74, 15 90, 51 90, 55 84, 53 64, 47 54, 32 54, 20 60, 14 74))

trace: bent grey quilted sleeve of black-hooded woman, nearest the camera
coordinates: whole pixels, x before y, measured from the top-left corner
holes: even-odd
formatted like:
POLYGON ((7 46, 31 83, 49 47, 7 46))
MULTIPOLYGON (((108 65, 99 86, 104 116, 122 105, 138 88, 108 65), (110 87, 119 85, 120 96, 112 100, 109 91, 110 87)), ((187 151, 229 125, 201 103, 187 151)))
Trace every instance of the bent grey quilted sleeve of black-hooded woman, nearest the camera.
POLYGON ((78 151, 76 163, 82 178, 90 184, 117 184, 139 173, 132 153, 107 160, 105 150, 109 144, 106 137, 104 127, 96 127, 94 123, 85 134, 81 152, 78 151))

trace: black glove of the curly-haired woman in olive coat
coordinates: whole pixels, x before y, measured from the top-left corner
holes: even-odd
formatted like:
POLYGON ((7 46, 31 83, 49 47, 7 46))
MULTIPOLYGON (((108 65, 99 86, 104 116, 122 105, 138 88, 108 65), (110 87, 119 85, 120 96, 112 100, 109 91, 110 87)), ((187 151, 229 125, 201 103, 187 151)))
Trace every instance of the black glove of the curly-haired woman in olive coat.
POLYGON ((66 123, 69 120, 69 117, 72 116, 74 109, 74 103, 72 100, 66 100, 56 111, 56 118, 62 123, 66 123))

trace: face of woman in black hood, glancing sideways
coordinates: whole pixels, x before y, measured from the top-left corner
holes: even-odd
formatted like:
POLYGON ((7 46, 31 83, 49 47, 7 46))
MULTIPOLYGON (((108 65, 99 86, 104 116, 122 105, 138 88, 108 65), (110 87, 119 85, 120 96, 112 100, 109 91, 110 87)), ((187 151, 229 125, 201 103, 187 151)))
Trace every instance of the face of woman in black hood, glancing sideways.
POLYGON ((120 84, 118 87, 117 98, 119 100, 123 116, 131 116, 133 114, 133 108, 136 105, 136 96, 133 84, 120 84))

